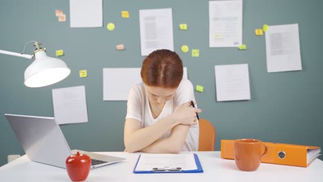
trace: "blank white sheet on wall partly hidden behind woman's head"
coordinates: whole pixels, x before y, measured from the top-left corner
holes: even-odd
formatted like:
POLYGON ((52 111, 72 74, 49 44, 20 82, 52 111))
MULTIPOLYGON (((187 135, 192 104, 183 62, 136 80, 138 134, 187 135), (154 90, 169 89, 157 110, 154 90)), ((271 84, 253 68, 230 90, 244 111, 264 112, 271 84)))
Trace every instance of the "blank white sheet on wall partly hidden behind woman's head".
MULTIPOLYGON (((133 85, 142 81, 141 68, 104 68, 104 101, 126 101, 133 85)), ((187 79, 187 68, 183 69, 183 78, 187 79)))

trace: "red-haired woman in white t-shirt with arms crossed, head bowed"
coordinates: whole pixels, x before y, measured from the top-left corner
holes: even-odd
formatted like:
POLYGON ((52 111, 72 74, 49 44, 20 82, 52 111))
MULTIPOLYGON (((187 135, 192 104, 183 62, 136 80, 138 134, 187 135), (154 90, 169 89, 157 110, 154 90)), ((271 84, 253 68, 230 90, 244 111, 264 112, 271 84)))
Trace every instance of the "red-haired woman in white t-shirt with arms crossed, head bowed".
POLYGON ((183 63, 170 50, 155 50, 141 67, 143 83, 130 90, 124 125, 127 152, 179 153, 199 145, 198 108, 183 63))

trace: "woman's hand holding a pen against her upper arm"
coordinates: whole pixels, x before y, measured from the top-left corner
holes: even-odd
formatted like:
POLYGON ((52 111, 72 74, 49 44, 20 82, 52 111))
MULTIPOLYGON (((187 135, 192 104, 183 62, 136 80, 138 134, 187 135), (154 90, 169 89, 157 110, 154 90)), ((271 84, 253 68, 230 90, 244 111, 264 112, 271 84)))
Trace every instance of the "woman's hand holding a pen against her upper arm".
POLYGON ((196 113, 200 113, 202 110, 199 108, 193 108, 190 101, 183 103, 175 112, 173 112, 176 122, 182 125, 196 125, 197 117, 196 113))

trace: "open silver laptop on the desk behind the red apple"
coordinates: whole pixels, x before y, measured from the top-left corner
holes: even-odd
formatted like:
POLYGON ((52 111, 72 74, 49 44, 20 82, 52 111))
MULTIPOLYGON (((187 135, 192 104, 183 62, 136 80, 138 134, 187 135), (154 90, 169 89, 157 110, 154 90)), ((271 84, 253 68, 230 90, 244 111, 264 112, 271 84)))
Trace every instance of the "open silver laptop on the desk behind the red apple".
POLYGON ((79 151, 92 159, 93 168, 123 161, 124 158, 70 150, 61 128, 52 117, 5 114, 12 130, 31 161, 66 168, 66 159, 79 151))

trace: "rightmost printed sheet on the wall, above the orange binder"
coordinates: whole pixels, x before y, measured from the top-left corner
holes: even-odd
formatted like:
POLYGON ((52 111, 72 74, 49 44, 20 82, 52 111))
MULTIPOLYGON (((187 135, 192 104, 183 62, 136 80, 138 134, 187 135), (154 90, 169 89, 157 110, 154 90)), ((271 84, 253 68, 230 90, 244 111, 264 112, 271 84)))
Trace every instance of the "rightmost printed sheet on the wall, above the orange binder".
POLYGON ((302 70, 298 24, 269 26, 266 58, 268 72, 302 70))

